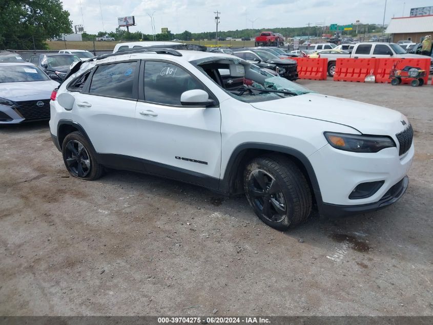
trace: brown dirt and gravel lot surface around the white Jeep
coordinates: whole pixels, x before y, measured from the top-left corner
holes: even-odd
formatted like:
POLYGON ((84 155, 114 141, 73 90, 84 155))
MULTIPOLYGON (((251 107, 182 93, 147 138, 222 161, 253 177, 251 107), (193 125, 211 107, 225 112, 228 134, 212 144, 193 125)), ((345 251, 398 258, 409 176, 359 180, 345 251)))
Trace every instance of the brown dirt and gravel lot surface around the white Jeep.
POLYGON ((399 202, 282 233, 244 197, 69 177, 48 123, 1 126, 0 315, 433 315, 433 86, 300 83, 408 116, 399 202))

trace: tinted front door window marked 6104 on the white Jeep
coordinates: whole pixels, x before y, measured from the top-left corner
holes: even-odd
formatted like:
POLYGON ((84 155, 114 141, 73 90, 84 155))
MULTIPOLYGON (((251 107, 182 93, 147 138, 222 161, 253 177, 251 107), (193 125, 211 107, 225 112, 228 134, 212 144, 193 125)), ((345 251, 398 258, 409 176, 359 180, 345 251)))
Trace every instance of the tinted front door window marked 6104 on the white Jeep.
POLYGON ((145 100, 158 104, 181 105, 180 95, 184 91, 205 90, 187 71, 167 62, 147 61, 144 81, 145 100))

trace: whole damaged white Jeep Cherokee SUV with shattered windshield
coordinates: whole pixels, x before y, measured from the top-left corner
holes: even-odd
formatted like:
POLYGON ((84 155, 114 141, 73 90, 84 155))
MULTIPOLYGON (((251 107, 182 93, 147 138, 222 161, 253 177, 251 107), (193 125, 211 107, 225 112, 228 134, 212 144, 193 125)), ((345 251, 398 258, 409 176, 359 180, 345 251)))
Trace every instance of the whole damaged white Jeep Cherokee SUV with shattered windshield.
POLYGON ((343 216, 396 202, 414 156, 398 111, 314 93, 228 54, 108 54, 78 62, 52 98, 52 139, 72 176, 94 180, 106 166, 245 193, 280 230, 312 207, 343 216))

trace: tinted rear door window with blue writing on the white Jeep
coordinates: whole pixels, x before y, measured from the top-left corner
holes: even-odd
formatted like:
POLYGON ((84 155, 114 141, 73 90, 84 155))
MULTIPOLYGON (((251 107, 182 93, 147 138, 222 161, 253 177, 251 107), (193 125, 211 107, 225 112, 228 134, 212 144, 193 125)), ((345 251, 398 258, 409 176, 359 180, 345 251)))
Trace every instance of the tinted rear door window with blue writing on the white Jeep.
POLYGON ((93 74, 89 92, 120 98, 133 98, 134 73, 137 62, 101 65, 93 74))

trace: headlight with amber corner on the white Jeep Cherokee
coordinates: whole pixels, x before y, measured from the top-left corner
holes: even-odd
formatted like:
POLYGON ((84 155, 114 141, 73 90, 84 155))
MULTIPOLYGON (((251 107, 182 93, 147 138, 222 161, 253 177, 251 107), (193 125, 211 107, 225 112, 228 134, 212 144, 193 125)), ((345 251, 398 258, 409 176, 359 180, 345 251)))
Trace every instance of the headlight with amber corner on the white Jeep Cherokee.
POLYGON ((394 140, 386 136, 350 135, 334 132, 324 132, 323 134, 330 145, 345 151, 378 152, 396 146, 394 140))

